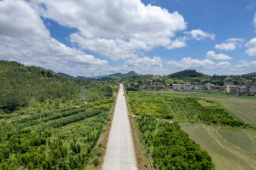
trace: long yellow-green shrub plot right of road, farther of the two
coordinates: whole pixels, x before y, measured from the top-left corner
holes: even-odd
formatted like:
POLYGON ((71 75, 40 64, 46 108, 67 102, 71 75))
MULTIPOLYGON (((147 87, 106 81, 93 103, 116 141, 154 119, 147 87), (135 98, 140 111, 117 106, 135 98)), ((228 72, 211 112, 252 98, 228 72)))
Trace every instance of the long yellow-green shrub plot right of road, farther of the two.
MULTIPOLYGON (((243 126, 229 111, 214 104, 202 106, 197 98, 164 93, 129 92, 129 104, 136 115, 174 119, 180 122, 243 126)), ((215 101, 206 100, 209 103, 215 101)))

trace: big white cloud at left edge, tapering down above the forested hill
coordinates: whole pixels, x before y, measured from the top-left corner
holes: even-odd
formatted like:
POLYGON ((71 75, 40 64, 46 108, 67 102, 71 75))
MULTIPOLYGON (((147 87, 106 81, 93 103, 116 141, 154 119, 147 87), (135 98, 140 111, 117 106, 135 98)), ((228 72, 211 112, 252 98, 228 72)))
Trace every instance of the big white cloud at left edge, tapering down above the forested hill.
POLYGON ((0 15, 2 60, 51 69, 66 68, 68 62, 90 67, 108 64, 52 38, 38 13, 26 1, 0 1, 0 15))

